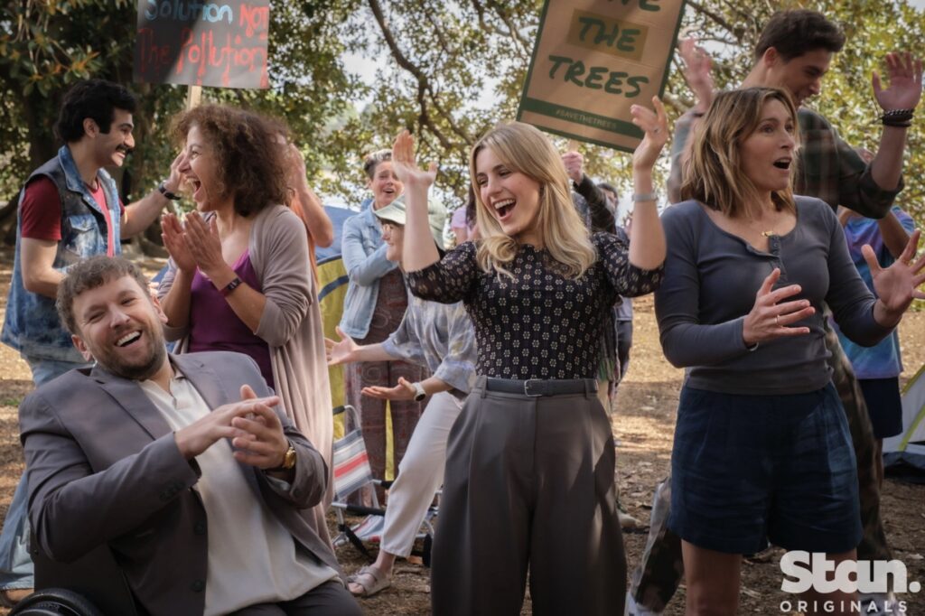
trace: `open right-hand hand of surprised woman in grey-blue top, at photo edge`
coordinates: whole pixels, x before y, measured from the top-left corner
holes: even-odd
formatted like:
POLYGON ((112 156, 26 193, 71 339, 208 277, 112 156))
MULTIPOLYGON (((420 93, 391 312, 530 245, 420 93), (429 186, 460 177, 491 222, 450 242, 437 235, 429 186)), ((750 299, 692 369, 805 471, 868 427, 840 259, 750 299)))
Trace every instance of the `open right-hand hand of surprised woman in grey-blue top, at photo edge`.
MULTIPOLYGON (((925 293, 918 289, 925 282, 925 274, 922 274, 922 269, 925 268, 925 254, 916 257, 920 236, 919 229, 914 231, 909 236, 903 253, 893 265, 886 268, 881 267, 877 262, 877 255, 869 245, 861 248, 861 254, 864 255, 864 260, 870 267, 873 289, 877 291, 877 296, 880 298, 879 303, 885 311, 883 314, 886 317, 885 320, 877 319, 882 325, 894 326, 906 312, 912 300, 925 300, 925 293)), ((878 316, 876 308, 874 316, 878 316)))

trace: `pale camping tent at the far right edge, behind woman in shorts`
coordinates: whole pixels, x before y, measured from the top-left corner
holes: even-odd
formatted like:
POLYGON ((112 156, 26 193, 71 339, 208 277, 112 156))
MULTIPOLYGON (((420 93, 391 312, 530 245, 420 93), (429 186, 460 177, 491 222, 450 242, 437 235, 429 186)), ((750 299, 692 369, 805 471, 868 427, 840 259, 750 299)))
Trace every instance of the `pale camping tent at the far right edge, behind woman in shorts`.
POLYGON ((903 431, 883 439, 888 474, 925 483, 925 365, 903 388, 903 431))

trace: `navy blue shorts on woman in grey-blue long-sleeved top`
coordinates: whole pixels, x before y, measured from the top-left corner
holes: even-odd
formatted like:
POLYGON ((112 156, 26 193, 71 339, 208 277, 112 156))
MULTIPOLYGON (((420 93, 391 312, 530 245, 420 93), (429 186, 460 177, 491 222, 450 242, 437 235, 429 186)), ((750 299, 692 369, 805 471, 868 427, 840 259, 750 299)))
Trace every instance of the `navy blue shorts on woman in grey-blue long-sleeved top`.
POLYGON ((835 388, 745 396, 685 387, 669 527, 698 548, 841 553, 861 539, 857 464, 835 388))

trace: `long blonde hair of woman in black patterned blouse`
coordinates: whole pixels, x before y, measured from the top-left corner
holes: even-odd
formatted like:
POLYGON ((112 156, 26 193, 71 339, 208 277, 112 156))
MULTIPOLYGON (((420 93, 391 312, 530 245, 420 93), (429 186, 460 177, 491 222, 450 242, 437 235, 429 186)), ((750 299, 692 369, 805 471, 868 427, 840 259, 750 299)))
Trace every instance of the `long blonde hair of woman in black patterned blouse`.
POLYGON ((469 172, 475 191, 475 218, 482 233, 476 261, 485 272, 494 269, 513 277, 506 269, 520 250, 517 240, 507 235, 487 203, 475 179, 475 159, 489 148, 504 166, 539 183, 536 228, 544 248, 561 266, 565 277, 577 278, 598 260, 585 223, 575 210, 569 179, 561 155, 543 133, 529 124, 511 122, 489 130, 472 149, 469 172))

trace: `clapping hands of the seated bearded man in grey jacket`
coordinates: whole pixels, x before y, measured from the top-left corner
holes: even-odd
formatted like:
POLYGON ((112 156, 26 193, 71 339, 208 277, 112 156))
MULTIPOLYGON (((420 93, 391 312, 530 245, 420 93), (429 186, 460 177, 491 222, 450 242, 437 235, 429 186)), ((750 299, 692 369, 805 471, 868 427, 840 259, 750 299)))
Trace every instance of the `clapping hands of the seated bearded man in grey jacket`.
POLYGON ((279 404, 279 397, 257 398, 253 389, 244 385, 240 398, 174 433, 185 459, 192 460, 219 439, 230 438, 238 462, 260 469, 282 465, 289 442, 272 408, 279 404))

